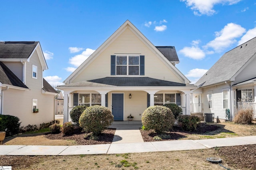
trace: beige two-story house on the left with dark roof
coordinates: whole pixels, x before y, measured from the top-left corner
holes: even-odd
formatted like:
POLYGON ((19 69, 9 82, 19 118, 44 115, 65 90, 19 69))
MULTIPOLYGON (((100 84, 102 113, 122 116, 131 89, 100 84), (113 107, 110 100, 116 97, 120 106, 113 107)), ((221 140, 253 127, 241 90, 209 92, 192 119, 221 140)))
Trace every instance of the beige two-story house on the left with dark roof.
POLYGON ((0 114, 17 116, 21 126, 54 120, 58 93, 43 79, 47 69, 39 42, 0 42, 0 114))

